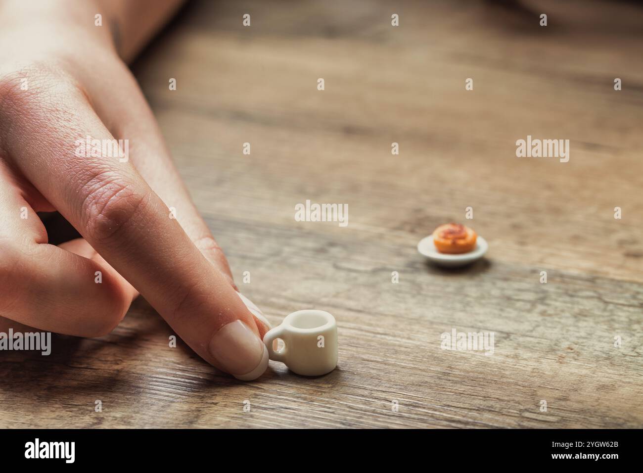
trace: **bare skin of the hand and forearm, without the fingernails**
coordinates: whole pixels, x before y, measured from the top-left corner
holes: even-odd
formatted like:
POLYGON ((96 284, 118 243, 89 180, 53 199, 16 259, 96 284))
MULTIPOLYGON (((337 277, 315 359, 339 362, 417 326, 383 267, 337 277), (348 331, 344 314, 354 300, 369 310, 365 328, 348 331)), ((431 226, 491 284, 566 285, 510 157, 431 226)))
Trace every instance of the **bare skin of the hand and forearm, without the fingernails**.
POLYGON ((219 329, 241 320, 267 331, 238 297, 123 60, 180 3, 0 2, 0 330, 98 337, 140 292, 222 371, 208 351, 219 329), (129 140, 129 160, 78 156, 86 136, 129 140), (36 212, 53 210, 82 238, 49 245, 36 212))

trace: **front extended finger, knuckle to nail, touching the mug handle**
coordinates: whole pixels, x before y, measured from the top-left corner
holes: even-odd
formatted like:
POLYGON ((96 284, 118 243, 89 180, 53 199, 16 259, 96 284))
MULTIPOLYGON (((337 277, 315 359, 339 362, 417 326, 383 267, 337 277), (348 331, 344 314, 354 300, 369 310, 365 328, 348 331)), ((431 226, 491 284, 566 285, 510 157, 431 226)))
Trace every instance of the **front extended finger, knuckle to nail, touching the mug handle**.
POLYGON ((240 379, 261 375, 268 355, 253 316, 126 159, 127 144, 119 153, 73 86, 47 91, 5 89, 10 160, 201 357, 240 379))

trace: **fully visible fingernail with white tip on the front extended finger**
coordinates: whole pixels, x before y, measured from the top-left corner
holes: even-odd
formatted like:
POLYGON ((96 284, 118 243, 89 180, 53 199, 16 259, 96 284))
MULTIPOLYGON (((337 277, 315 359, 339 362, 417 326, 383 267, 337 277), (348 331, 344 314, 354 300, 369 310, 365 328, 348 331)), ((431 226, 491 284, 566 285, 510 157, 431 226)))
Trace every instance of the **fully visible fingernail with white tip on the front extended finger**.
POLYGON ((221 367, 239 380, 258 378, 268 366, 266 346, 241 320, 230 322, 215 333, 208 349, 221 367))

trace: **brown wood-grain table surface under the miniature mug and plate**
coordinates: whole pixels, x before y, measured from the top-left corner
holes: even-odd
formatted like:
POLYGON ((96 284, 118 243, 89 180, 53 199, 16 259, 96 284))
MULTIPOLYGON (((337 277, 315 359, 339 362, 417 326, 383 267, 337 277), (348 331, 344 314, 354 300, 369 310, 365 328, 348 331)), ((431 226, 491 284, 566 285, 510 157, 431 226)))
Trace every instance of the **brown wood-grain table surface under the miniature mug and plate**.
POLYGON ((643 8, 535 5, 186 6, 134 73, 242 292, 274 324, 330 311, 339 366, 239 382, 139 299, 106 337, 0 353, 0 427, 643 427, 643 8), (569 162, 516 158, 528 134, 569 162), (306 199, 349 225, 295 221, 306 199), (424 261, 449 221, 484 260, 424 261), (454 328, 493 355, 441 349, 454 328))

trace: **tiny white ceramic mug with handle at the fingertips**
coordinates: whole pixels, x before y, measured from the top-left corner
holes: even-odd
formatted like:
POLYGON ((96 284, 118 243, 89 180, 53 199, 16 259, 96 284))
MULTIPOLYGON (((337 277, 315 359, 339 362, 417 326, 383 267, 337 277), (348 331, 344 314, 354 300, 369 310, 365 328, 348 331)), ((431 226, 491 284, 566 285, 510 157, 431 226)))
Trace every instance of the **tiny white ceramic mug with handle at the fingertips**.
POLYGON ((298 310, 287 315, 280 326, 269 330, 264 344, 271 360, 284 363, 303 376, 320 376, 337 366, 337 323, 323 310, 298 310), (284 340, 275 350, 273 342, 284 340))

